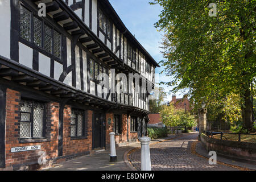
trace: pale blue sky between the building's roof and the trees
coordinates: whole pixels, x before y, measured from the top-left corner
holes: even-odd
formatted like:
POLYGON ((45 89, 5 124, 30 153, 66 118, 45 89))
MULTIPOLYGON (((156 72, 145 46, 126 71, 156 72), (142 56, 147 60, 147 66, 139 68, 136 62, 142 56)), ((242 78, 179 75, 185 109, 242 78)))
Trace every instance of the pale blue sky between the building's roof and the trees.
MULTIPOLYGON (((159 32, 154 27, 158 22, 161 7, 159 5, 149 5, 150 0, 109 0, 115 11, 122 19, 122 22, 135 38, 142 44, 148 53, 159 63, 163 60, 160 53, 160 42, 163 32, 159 32)), ((156 68, 156 73, 160 73, 164 67, 156 68)), ((170 77, 164 74, 159 75, 159 81, 170 81, 170 77)), ((165 92, 171 90, 166 85, 160 85, 165 92)), ((168 94, 166 100, 171 101, 172 94, 168 94)), ((176 93, 177 98, 182 98, 183 93, 176 93)))

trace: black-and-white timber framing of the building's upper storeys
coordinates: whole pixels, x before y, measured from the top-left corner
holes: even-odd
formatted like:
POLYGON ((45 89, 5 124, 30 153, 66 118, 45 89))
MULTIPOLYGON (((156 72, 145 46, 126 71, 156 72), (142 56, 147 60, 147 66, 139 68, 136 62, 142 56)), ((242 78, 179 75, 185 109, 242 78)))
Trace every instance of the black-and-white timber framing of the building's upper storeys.
MULTIPOLYGON (((19 89, 24 95, 31 90, 30 92, 38 94, 37 100, 59 101, 60 136, 63 135, 61 112, 63 113, 65 104, 72 103, 77 107, 100 110, 103 113, 106 110, 122 110, 129 114, 147 116, 148 95, 139 97, 139 94, 104 94, 102 91, 106 88, 90 78, 91 59, 108 71, 113 68, 115 73, 138 73, 142 80, 153 86, 155 67, 159 67, 127 30, 108 0, 1 0, 0 13, 0 86, 19 89), (47 17, 37 15, 38 3, 42 2, 46 3, 47 17), (43 36, 42 47, 20 36, 21 7, 31 12, 31 32, 34 31, 35 22, 32 19, 35 17, 43 24, 42 34, 46 31, 44 26, 60 34, 59 57, 42 48, 46 41, 43 36), (101 16, 108 19, 107 31, 100 26, 101 16), (130 56, 127 56, 128 51, 131 52, 130 56)), ((31 33, 31 39, 33 36, 31 33)), ((0 103, 4 100, 5 95, 1 95, 0 90, 0 103)), ((0 106, 0 114, 2 112, 5 110, 0 106)), ((4 120, 1 115, 1 134, 4 120)), ((62 140, 59 138, 61 156, 62 140)), ((1 139, 2 137, 2 148, 4 142, 1 139)), ((0 150, 0 159, 3 156, 3 151, 0 150)), ((0 163, 0 167, 1 165, 0 163)))

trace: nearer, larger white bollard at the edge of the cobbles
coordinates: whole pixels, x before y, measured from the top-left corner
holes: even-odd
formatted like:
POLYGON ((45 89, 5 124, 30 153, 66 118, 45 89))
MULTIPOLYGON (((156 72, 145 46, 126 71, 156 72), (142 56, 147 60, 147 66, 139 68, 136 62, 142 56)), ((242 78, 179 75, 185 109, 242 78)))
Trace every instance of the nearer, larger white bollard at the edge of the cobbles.
POLYGON ((151 171, 150 138, 141 138, 141 171, 151 171))

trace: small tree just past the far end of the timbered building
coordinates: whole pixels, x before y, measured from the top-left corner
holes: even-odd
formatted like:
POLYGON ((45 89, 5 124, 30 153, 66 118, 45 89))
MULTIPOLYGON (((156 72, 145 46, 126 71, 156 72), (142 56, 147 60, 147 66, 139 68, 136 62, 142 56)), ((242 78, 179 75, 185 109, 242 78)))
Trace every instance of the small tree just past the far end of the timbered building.
POLYGON ((164 92, 164 88, 156 88, 154 90, 154 100, 149 100, 149 108, 151 113, 159 113, 162 110, 162 103, 164 101, 164 97, 166 97, 166 93, 164 92))

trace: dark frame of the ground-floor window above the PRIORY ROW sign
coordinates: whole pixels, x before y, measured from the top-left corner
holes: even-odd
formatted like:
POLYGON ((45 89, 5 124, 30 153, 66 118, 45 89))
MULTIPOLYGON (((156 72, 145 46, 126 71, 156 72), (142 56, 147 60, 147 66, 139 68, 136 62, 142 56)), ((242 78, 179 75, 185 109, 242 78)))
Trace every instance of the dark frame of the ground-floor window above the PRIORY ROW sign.
POLYGON ((20 100, 20 114, 19 114, 19 123, 31 123, 31 127, 30 127, 30 137, 20 137, 20 129, 19 129, 19 139, 20 140, 26 140, 26 139, 46 139, 46 103, 45 102, 40 102, 40 101, 35 101, 35 100, 27 100, 27 99, 21 99, 20 100), (21 111, 21 107, 22 107, 22 103, 23 102, 31 102, 32 106, 31 106, 31 112, 30 112, 30 121, 21 121, 21 116, 22 113, 28 113, 26 111, 21 111), (38 103, 38 104, 42 104, 44 105, 44 109, 43 109, 43 118, 42 118, 42 137, 34 137, 34 104, 38 103))

